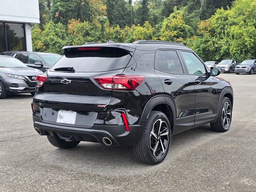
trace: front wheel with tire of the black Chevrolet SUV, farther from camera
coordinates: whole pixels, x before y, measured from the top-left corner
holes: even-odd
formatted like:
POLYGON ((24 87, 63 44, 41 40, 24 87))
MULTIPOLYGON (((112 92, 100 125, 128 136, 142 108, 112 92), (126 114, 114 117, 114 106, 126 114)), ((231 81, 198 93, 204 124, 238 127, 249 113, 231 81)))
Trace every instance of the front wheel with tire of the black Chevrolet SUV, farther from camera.
POLYGON ((226 132, 227 130, 229 130, 232 120, 232 104, 229 98, 223 97, 220 106, 221 107, 219 110, 217 121, 215 123, 211 123, 210 125, 212 130, 216 132, 226 132))

